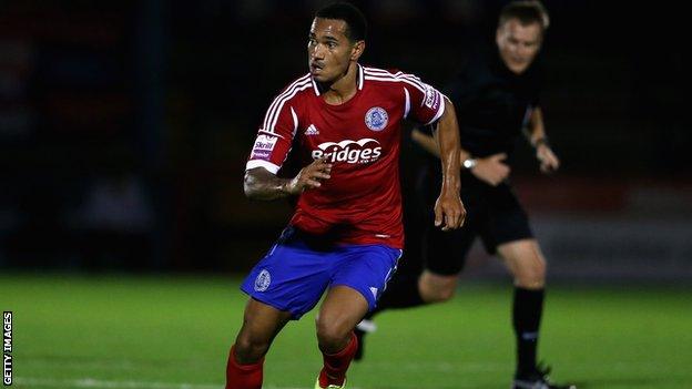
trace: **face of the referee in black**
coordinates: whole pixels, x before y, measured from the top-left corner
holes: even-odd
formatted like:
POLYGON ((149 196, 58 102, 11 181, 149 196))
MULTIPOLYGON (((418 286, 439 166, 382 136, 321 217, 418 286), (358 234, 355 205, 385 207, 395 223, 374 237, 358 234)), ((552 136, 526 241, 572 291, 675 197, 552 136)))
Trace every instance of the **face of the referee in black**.
POLYGON ((531 23, 521 25, 519 20, 510 19, 501 24, 496 34, 496 42, 502 61, 515 73, 522 73, 536 59, 542 40, 541 25, 531 23))

